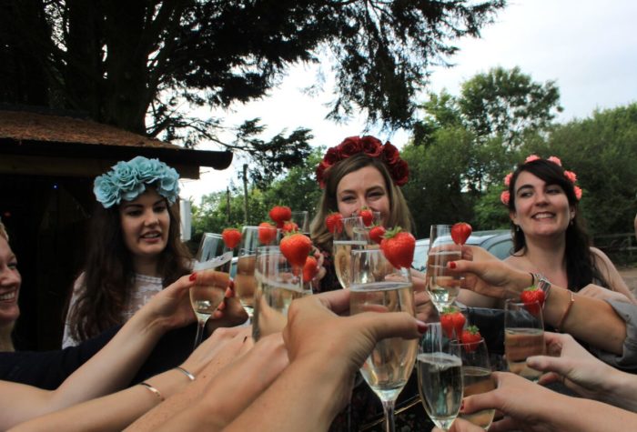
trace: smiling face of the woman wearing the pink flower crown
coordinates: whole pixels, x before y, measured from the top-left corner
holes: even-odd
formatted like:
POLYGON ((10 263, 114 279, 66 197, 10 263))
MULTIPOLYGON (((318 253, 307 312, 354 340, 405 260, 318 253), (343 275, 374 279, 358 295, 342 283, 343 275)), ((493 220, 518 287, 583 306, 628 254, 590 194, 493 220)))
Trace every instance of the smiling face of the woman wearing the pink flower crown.
POLYGON ((524 236, 563 235, 575 211, 561 186, 547 185, 541 178, 522 171, 515 181, 515 212, 511 220, 524 236))

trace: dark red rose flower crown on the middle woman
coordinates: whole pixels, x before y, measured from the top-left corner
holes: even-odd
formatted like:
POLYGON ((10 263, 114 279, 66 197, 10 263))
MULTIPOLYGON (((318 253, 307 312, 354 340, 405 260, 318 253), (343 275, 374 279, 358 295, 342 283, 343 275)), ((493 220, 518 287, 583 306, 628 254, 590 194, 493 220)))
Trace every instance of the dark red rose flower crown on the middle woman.
POLYGON ((387 166, 389 176, 396 186, 403 186, 409 180, 410 166, 400 158, 398 148, 389 141, 383 145, 374 136, 349 136, 339 146, 329 147, 323 160, 317 166, 317 180, 321 189, 325 188, 325 176, 331 166, 359 153, 370 157, 379 157, 387 166))

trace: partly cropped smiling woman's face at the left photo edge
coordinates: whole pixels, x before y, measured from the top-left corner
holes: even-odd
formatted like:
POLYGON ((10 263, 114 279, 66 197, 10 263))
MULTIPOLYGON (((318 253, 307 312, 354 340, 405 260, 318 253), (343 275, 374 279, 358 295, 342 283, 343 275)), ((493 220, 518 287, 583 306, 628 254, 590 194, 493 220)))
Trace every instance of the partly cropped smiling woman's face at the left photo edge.
POLYGON ((5 237, 0 236, 0 326, 11 324, 20 316, 17 305, 20 284, 17 259, 5 237))

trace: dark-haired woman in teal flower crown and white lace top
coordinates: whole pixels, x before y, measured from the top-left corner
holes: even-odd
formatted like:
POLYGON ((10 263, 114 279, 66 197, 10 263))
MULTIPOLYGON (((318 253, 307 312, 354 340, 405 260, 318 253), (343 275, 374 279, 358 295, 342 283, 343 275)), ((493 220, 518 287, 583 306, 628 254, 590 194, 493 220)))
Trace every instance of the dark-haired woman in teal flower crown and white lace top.
POLYGON ((190 273, 191 255, 179 239, 177 171, 136 156, 94 184, 96 208, 86 262, 76 278, 63 347, 125 323, 178 277, 190 273))

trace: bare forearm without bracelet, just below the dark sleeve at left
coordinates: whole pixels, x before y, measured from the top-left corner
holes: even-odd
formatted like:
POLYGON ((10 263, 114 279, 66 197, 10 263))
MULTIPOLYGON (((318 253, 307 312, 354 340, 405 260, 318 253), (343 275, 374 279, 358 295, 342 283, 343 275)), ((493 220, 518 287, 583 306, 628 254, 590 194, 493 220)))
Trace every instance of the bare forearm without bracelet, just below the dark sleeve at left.
POLYGON ((125 387, 165 333, 159 320, 140 312, 105 347, 52 393, 51 407, 69 407, 125 387))

